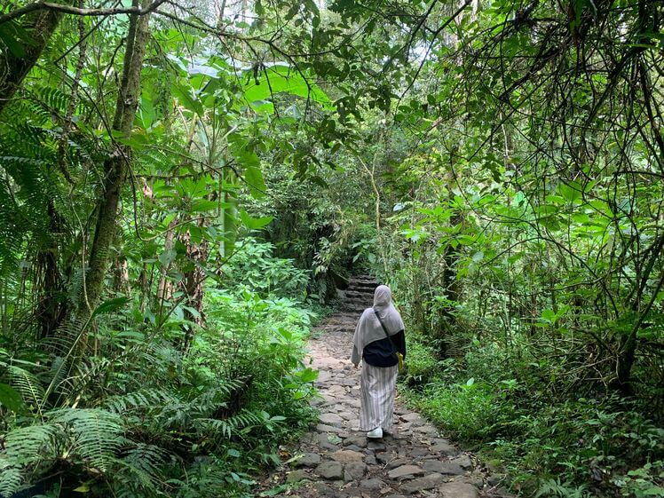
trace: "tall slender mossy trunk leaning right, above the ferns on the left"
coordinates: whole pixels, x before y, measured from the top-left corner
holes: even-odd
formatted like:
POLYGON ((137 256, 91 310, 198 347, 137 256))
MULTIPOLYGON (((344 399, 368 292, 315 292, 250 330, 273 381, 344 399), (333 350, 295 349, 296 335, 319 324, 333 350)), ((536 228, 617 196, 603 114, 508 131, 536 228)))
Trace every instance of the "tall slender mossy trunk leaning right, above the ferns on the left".
MULTIPOLYGON (((148 2, 144 0, 144 7, 148 2)), ((138 0, 134 0, 138 6, 138 0)), ((136 116, 138 96, 140 93, 140 71, 146 52, 149 36, 148 23, 150 15, 130 18, 130 29, 124 56, 123 79, 115 107, 113 129, 120 131, 123 137, 129 137, 136 116)), ((124 180, 129 169, 131 150, 129 146, 115 145, 114 150, 104 162, 105 178, 102 182, 102 193, 97 207, 97 223, 89 258, 89 270, 86 275, 82 296, 79 298, 77 310, 79 317, 89 317, 104 286, 104 278, 108 269, 108 252, 115 238, 115 218, 122 193, 124 180)))

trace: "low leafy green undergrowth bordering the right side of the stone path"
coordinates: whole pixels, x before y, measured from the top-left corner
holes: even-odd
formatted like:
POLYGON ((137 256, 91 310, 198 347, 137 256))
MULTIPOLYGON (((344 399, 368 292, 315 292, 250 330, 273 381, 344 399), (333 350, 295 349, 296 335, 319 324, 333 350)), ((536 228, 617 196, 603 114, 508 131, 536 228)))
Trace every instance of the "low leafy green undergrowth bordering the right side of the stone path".
POLYGON ((512 491, 664 496, 664 430, 636 400, 566 392, 557 399, 531 378, 545 372, 491 345, 441 361, 423 339, 408 339, 409 406, 478 448, 489 469, 510 476, 512 491))

